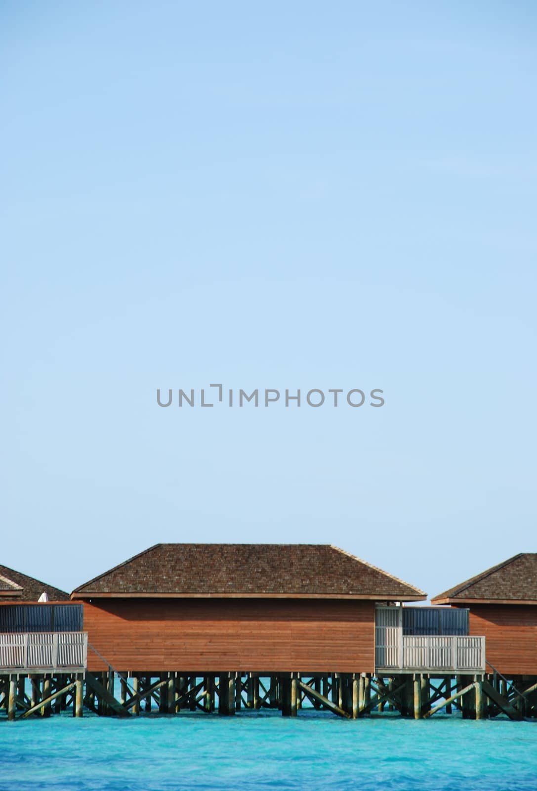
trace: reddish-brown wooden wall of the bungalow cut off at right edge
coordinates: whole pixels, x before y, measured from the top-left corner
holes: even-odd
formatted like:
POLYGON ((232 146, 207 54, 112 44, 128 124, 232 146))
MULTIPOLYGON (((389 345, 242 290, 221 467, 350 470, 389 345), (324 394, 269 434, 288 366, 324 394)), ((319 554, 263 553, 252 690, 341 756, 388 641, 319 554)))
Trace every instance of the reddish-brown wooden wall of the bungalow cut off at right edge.
MULTIPOLYGON (((537 676, 537 606, 470 604, 470 634, 486 637, 486 659, 505 676, 537 676)), ((487 666, 487 672, 492 669, 487 666)))

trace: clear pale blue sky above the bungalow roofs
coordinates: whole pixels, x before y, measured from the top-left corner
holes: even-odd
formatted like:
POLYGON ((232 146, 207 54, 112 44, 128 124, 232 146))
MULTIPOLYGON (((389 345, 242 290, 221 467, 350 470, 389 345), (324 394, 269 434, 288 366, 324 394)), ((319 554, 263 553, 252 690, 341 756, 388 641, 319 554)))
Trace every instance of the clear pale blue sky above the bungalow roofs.
POLYGON ((2 557, 535 551, 535 5, 5 2, 2 557), (157 407, 371 388, 381 409, 157 407))

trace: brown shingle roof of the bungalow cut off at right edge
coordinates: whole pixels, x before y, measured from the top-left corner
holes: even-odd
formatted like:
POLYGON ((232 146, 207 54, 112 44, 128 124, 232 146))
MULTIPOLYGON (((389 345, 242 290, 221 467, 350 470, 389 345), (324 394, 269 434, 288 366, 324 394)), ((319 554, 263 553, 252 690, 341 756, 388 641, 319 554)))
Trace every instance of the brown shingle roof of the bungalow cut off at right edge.
POLYGON ((537 602, 537 554, 516 554, 431 599, 437 603, 444 600, 537 602))

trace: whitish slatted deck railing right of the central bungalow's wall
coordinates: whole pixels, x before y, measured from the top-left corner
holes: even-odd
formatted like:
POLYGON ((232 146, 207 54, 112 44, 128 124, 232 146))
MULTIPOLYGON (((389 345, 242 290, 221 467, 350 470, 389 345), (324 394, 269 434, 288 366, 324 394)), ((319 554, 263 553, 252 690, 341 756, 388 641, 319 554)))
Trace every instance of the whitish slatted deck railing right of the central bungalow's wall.
POLYGON ((376 667, 399 671, 484 672, 485 638, 403 636, 399 645, 377 643, 376 667))

